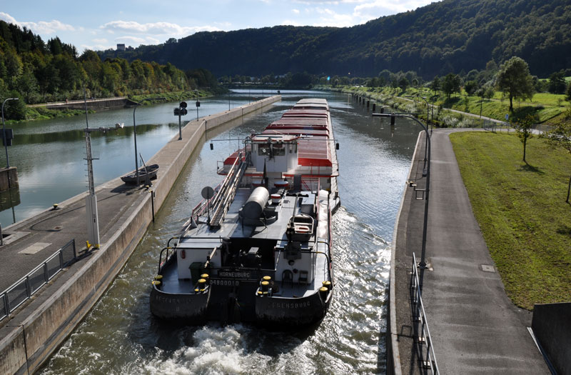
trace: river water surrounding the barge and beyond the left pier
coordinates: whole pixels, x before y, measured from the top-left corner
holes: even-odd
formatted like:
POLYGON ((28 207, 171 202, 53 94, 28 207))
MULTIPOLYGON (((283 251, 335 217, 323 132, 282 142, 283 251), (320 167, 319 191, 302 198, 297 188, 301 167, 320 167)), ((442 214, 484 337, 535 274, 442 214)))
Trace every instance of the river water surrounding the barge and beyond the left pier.
MULTIPOLYGON (((212 101, 213 113, 248 102, 249 95, 248 91, 241 91, 204 99, 201 111, 206 111, 208 100, 212 101)), ((385 372, 390 241, 419 129, 413 123, 403 122, 398 123, 391 134, 388 123, 373 119, 346 94, 283 91, 282 96, 283 100, 269 111, 253 114, 243 125, 213 135, 213 150, 210 141, 196 150, 131 259, 86 319, 51 356, 41 374, 385 372), (216 162, 236 149, 236 139, 243 139, 252 130, 260 131, 304 97, 328 99, 335 138, 340 144, 338 184, 342 207, 333 219, 335 296, 328 315, 318 327, 295 333, 266 331, 243 324, 171 326, 157 321, 149 311, 148 294, 158 266, 158 252, 171 236, 178 234, 191 209, 201 199, 201 189, 221 181, 221 176, 216 175, 216 162)), ((137 138, 141 138, 138 149, 144 150, 143 158, 150 158, 178 132, 172 108, 173 104, 163 104, 137 110, 137 124, 141 124, 141 131, 137 125, 137 134, 142 134, 137 138)), ((189 115, 191 113, 189 111, 189 115)), ((89 119, 90 126, 94 127, 115 122, 132 126, 132 110, 94 114, 89 119), (121 116, 124 120, 120 121, 121 116), (131 116, 131 123, 128 123, 128 116, 131 116)), ((51 131, 40 131, 34 124, 26 125, 36 131, 31 134, 76 132, 75 136, 69 135, 69 140, 54 135, 57 140, 50 141, 52 136, 36 135, 42 141, 34 144, 37 150, 31 152, 31 156, 26 154, 26 158, 46 164, 61 161, 62 174, 79 180, 66 182, 76 186, 76 190, 66 186, 71 196, 86 189, 86 179, 81 179, 85 173, 81 146, 78 146, 84 142, 81 131, 84 123, 79 119, 74 119, 77 124, 68 121, 74 124, 74 129, 66 127, 66 121, 46 124, 46 129, 51 127, 51 131), (76 146, 72 147, 72 144, 76 146), (40 149, 44 150, 44 156, 40 155, 40 149), (55 159, 63 158, 60 154, 66 152, 71 156, 65 162, 55 159)), ((14 141, 16 143, 16 139, 14 141)), ((132 133, 128 129, 125 134, 96 139, 94 150, 101 151, 101 159, 94 167, 96 183, 132 169, 134 150, 129 150, 131 143, 132 133), (114 165, 106 166, 108 164, 114 165)), ((10 151, 14 151, 14 159, 17 159, 14 147, 10 151)), ((23 149, 19 152, 21 156, 25 153, 23 149)), ((20 166, 19 173, 22 173, 21 191, 26 189, 25 181, 36 184, 35 194, 44 194, 44 184, 53 184, 46 187, 45 194, 54 194, 49 196, 50 199, 69 198, 56 195, 63 189, 58 185, 67 179, 46 176, 42 171, 28 171, 30 176, 27 177, 26 172, 20 172, 20 166)), ((21 200, 24 205, 23 193, 21 200)), ((46 206, 45 201, 42 204, 46 206)), ((33 208, 26 210, 28 214, 34 211, 33 208)))

